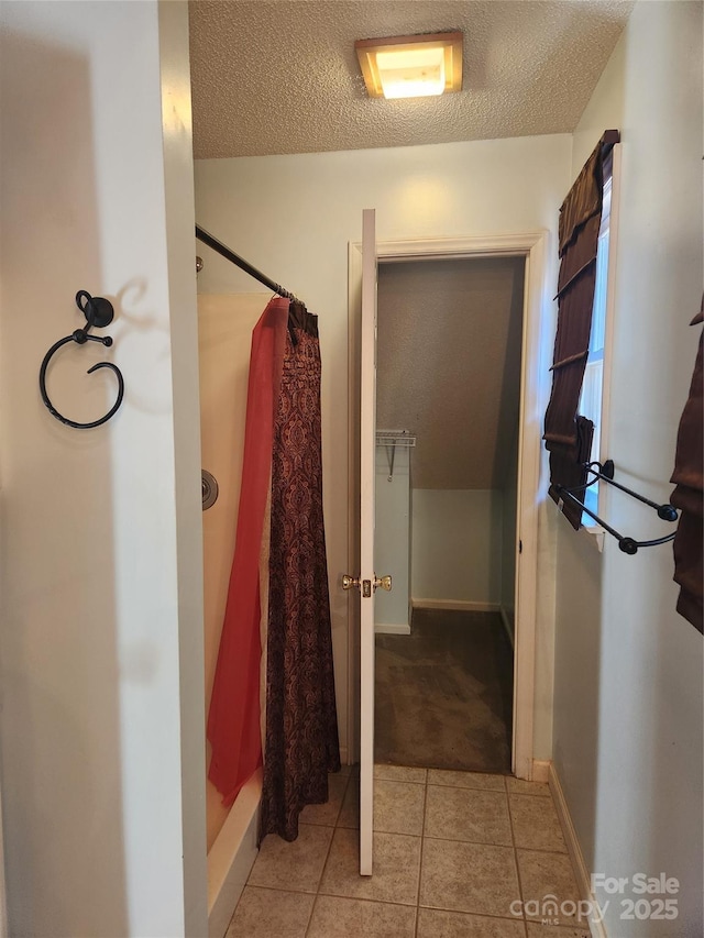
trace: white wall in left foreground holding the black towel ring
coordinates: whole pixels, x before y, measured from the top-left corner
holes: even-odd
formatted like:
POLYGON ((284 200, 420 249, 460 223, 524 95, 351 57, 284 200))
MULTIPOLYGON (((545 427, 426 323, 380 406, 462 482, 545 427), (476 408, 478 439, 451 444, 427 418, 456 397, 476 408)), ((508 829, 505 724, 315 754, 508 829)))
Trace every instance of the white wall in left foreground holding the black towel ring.
POLYGON ((186 7, 3 3, 2 807, 11 935, 206 934, 186 7), (108 296, 110 351, 46 349, 108 296))

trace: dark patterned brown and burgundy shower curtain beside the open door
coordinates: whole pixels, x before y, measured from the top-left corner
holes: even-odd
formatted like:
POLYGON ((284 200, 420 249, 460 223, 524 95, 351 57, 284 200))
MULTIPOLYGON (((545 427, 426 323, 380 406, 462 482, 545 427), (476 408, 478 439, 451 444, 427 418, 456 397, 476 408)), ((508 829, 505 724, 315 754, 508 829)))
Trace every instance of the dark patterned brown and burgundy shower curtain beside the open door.
POLYGON ((260 839, 298 836, 340 769, 322 519, 318 318, 292 302, 272 462, 260 839))

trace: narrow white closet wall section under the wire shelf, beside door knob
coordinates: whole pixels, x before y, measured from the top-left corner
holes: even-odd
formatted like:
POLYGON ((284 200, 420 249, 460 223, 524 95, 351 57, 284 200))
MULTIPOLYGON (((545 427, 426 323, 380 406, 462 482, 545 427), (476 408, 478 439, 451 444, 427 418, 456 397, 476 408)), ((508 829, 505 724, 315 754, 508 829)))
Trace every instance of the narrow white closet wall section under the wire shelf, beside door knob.
POLYGON ((406 446, 376 446, 374 563, 377 576, 392 577, 392 591, 376 591, 375 626, 410 627, 411 452, 406 446))

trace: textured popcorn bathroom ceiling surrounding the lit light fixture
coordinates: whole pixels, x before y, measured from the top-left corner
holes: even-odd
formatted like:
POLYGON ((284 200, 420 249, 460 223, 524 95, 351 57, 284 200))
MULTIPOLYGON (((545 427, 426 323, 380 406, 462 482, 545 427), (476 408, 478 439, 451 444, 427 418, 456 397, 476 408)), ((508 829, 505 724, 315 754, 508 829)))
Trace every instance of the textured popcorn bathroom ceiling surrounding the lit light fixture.
POLYGON ((197 158, 570 133, 631 0, 190 0, 197 158), (354 41, 464 33, 463 90, 366 97, 354 41))

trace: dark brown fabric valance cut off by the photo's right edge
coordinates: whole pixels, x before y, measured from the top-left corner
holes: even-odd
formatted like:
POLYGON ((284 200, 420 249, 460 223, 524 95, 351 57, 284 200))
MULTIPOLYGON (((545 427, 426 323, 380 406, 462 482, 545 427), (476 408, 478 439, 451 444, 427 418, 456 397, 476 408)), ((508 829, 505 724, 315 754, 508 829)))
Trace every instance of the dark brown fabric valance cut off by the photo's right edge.
MULTIPOLYGON (((691 324, 704 322, 704 298, 702 310, 691 324)), ((702 591, 704 567, 702 547, 704 531, 704 363, 702 362, 704 330, 700 332, 700 349, 694 365, 690 396, 678 431, 674 472, 670 482, 675 484, 670 501, 680 509, 678 532, 674 536, 674 581, 680 585, 678 613, 695 629, 704 633, 702 591)))

